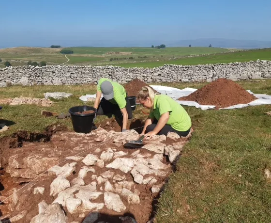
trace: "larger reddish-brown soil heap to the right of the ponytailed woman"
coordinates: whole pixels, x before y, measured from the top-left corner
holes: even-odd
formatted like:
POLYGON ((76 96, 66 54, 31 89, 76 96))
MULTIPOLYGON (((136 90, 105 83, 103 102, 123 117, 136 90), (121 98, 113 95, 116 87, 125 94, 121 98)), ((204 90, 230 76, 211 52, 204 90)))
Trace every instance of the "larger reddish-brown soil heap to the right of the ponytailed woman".
POLYGON ((247 104, 257 98, 232 80, 218 79, 196 90, 181 101, 196 101, 200 105, 215 105, 216 109, 247 104))

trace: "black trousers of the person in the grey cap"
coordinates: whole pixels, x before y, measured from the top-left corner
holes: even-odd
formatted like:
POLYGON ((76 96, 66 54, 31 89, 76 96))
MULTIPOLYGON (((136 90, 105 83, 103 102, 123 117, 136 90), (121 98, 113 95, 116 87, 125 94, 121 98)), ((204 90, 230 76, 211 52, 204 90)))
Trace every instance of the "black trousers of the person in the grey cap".
MULTIPOLYGON (((128 119, 133 118, 132 108, 128 97, 125 97, 126 100, 126 111, 128 113, 128 119)), ((99 106, 97 115, 106 115, 107 117, 111 117, 114 114, 116 119, 122 119, 122 112, 120 111, 120 107, 116 104, 111 103, 110 101, 105 100, 103 97, 99 106)))

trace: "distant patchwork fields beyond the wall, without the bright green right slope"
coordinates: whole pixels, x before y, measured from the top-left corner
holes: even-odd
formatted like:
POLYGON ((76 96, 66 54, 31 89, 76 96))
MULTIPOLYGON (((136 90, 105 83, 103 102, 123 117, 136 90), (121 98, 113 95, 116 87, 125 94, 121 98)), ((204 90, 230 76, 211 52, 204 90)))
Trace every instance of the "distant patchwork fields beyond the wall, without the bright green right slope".
MULTIPOLYGON (((64 54, 60 53, 62 48, 5 48, 0 49, 0 58, 3 60, 0 67, 4 67, 4 61, 10 61, 13 66, 26 65, 28 61, 49 64, 63 64, 67 62, 64 54)), ((66 48, 73 50, 73 54, 67 54, 70 59, 66 65, 121 65, 134 64, 137 62, 159 62, 190 55, 212 54, 230 52, 233 49, 226 48, 198 48, 198 47, 177 47, 177 48, 93 48, 75 47, 66 48), (116 53, 116 54, 115 54, 116 53), (111 59, 111 61, 110 61, 111 59)), ((163 62, 162 62, 163 63, 163 62)))

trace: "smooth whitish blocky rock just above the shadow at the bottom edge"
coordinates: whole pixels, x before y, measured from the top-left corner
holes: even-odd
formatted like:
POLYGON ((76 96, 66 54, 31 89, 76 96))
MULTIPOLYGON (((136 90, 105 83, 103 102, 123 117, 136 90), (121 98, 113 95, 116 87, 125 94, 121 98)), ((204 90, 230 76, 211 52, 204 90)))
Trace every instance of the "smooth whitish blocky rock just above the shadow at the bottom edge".
POLYGON ((126 207, 123 204, 123 202, 121 201, 119 194, 115 194, 112 192, 105 192, 104 199, 105 199, 105 206, 109 210, 114 210, 117 212, 121 212, 121 211, 126 210, 126 207))

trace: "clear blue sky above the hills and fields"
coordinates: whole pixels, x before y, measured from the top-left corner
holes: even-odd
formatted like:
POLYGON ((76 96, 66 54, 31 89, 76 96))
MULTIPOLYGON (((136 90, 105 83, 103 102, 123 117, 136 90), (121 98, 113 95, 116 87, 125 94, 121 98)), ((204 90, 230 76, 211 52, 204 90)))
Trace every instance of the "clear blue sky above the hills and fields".
POLYGON ((271 0, 0 0, 0 48, 271 41, 271 0))

